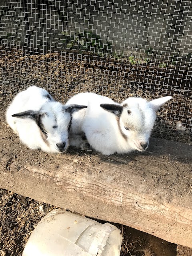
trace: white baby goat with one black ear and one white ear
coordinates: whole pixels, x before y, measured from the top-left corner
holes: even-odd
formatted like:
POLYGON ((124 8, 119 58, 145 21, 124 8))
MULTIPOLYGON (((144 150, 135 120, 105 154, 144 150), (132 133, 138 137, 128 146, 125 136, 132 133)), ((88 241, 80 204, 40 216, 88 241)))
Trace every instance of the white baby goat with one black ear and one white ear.
POLYGON ((118 104, 105 96, 80 93, 68 100, 68 104, 88 106, 73 113, 71 145, 76 146, 72 134, 84 133, 90 146, 104 154, 144 151, 156 120, 156 111, 172 97, 146 101, 143 98, 127 98, 118 104))

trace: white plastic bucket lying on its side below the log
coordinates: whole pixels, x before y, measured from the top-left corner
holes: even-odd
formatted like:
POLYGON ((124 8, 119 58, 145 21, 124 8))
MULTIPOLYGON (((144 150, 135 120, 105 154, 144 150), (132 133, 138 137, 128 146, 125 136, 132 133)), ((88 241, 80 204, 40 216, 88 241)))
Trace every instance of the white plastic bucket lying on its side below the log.
POLYGON ((53 210, 36 226, 22 256, 119 256, 121 239, 112 224, 53 210))

